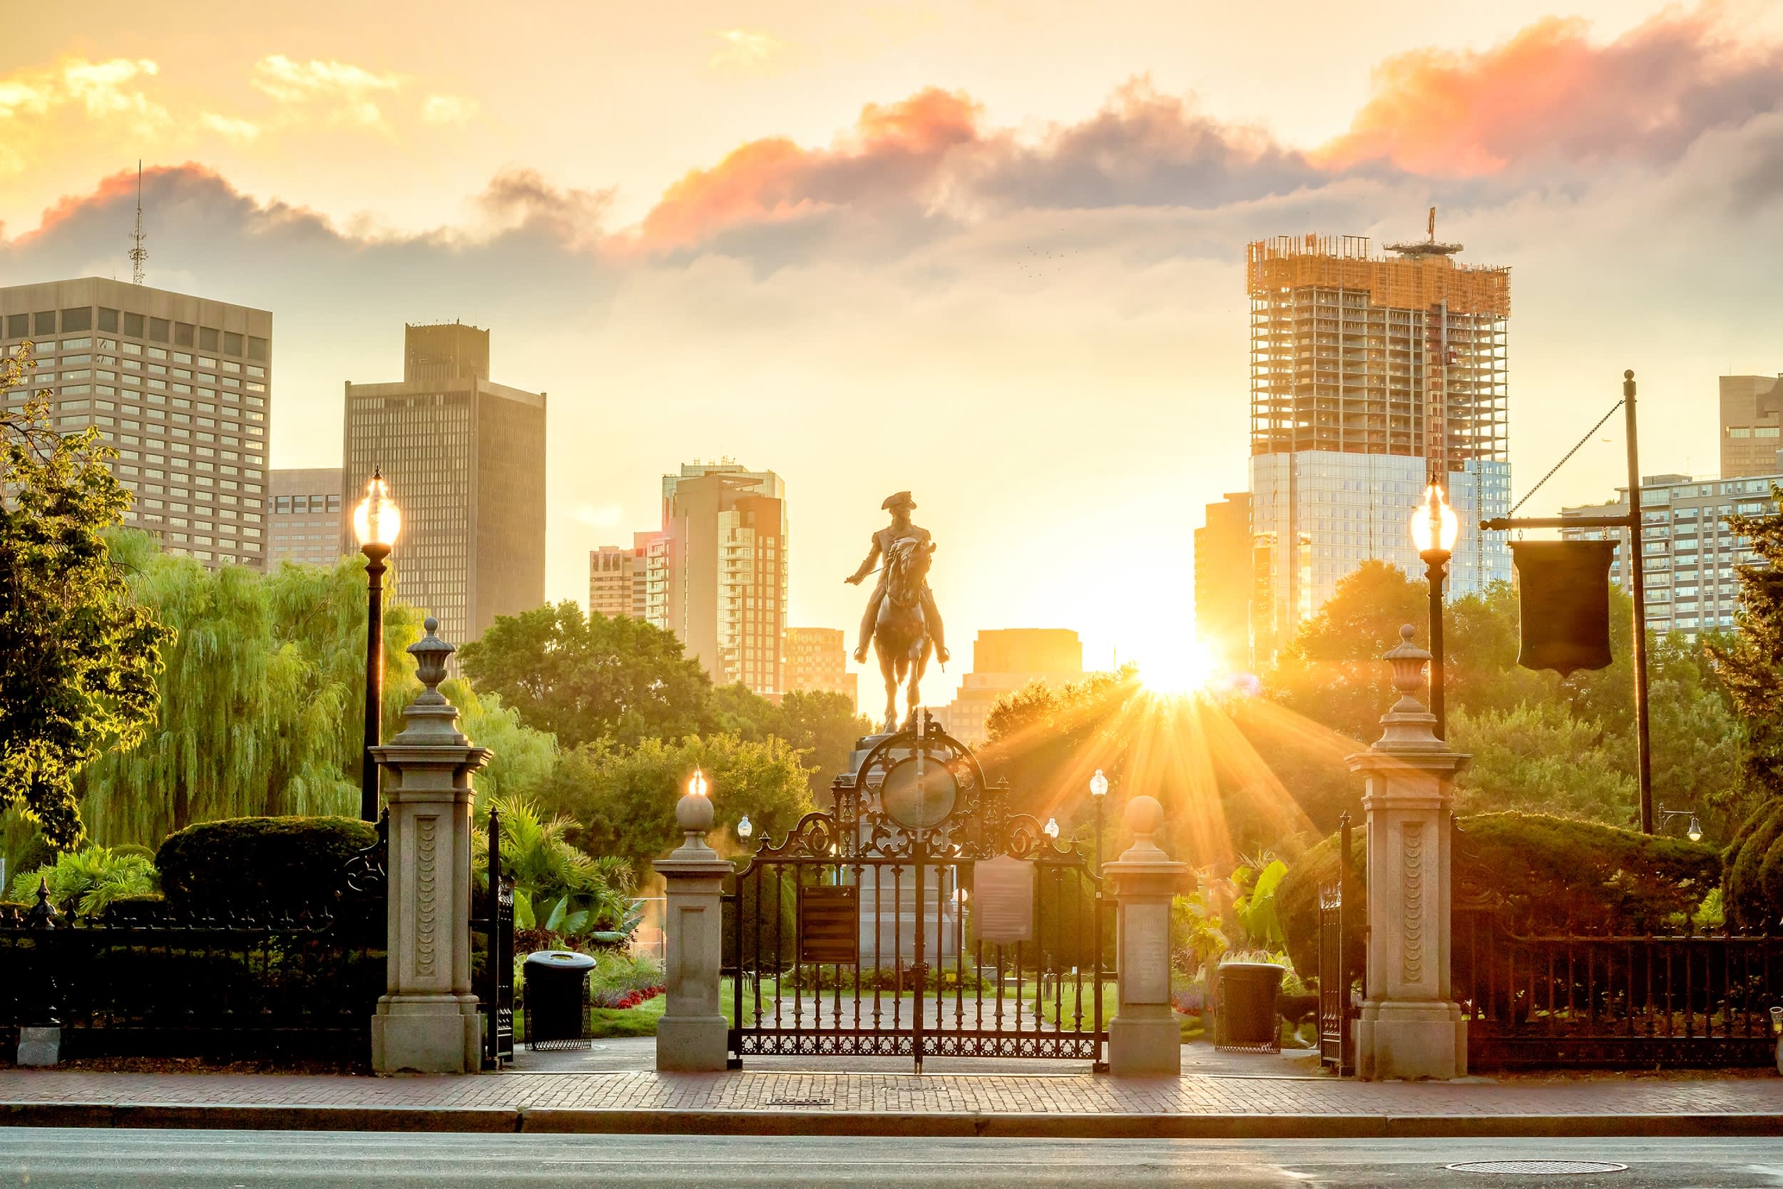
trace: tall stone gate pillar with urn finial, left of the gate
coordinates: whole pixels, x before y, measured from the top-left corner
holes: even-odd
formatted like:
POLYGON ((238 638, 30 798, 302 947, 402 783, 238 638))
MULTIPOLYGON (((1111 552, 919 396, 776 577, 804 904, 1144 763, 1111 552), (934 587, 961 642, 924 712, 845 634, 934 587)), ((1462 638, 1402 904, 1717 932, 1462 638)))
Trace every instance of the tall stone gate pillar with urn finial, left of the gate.
POLYGON ((426 688, 401 734, 371 750, 390 809, 387 991, 371 1018, 378 1073, 474 1073, 480 1016, 471 993, 471 774, 487 747, 458 733, 458 708, 439 692, 453 645, 439 620, 408 652, 426 688))

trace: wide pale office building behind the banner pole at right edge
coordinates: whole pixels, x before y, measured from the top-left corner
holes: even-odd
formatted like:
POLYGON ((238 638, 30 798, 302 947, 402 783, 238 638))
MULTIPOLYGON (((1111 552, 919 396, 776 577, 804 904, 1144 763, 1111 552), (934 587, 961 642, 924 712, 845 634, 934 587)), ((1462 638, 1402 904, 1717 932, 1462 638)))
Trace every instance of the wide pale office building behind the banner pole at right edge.
MULTIPOLYGON (((1647 631, 1731 631, 1740 604, 1737 569, 1758 554, 1747 538, 1728 528, 1730 513, 1774 515, 1771 485, 1783 474, 1737 480, 1699 480, 1687 474, 1649 474, 1640 481, 1640 565, 1647 603, 1647 631)), ((1562 508, 1573 515, 1628 515, 1628 488, 1610 504, 1562 508)), ((1628 529, 1562 528, 1564 540, 1617 542, 1610 579, 1624 586, 1628 529)))

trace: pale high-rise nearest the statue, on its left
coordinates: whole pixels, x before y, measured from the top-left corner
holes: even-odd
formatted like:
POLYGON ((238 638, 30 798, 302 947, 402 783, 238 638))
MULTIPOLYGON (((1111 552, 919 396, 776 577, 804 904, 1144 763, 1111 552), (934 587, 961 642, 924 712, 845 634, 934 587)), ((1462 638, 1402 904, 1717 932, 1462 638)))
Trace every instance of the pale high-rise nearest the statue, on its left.
POLYGON ((779 695, 786 631, 786 485, 735 462, 663 476, 663 528, 645 544, 645 619, 715 685, 779 695))

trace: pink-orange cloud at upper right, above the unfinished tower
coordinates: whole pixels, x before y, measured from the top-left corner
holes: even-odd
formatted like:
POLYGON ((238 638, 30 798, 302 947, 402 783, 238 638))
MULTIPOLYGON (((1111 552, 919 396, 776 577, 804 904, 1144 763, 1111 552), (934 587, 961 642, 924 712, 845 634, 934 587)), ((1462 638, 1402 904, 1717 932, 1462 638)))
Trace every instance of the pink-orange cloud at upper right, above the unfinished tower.
POLYGON ((1483 52, 1400 53, 1316 159, 1434 176, 1676 160, 1783 102, 1783 50, 1728 36, 1717 16, 1667 11, 1608 45, 1582 20, 1546 18, 1483 52))

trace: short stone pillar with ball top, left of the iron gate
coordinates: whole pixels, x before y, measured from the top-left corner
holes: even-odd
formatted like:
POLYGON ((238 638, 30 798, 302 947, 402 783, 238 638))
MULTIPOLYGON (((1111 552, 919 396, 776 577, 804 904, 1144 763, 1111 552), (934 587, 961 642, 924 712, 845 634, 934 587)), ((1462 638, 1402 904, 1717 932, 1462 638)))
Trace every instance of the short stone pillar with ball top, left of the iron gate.
POLYGON ((663 1018, 656 1023, 656 1068, 681 1073, 724 1070, 729 1023, 719 1011, 724 952, 720 895, 731 865, 706 845, 711 799, 685 793, 676 804, 683 841, 653 865, 669 884, 663 914, 663 1018))

